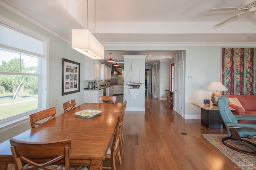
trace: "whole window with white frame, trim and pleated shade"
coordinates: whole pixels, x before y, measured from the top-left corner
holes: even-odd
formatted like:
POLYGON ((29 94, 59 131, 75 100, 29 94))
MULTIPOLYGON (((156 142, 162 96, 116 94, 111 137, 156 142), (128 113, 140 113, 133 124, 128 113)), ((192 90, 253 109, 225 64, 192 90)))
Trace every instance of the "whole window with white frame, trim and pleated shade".
POLYGON ((47 39, 15 26, 0 23, 0 132, 46 108, 47 39))

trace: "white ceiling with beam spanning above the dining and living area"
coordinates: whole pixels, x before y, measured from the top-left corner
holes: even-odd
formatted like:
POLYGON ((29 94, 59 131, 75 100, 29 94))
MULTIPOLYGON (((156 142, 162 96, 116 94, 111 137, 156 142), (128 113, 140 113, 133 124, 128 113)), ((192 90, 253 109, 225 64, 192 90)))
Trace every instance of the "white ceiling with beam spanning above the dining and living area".
POLYGON ((246 13, 214 27, 238 11, 208 12, 211 8, 236 7, 241 3, 241 0, 96 0, 94 18, 94 0, 89 0, 87 25, 87 0, 0 0, 4 8, 68 42, 71 29, 88 26, 106 49, 105 60, 109 59, 109 53, 118 61, 123 61, 122 55, 147 55, 148 65, 158 60, 171 61, 174 51, 130 51, 127 46, 212 43, 255 46, 256 18, 252 15, 246 13))

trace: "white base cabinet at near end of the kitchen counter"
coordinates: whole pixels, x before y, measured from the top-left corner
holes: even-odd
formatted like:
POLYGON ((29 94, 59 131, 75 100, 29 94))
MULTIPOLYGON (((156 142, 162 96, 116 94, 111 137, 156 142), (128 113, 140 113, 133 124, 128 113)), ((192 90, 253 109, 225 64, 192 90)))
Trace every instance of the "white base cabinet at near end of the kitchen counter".
POLYGON ((103 89, 84 90, 84 103, 100 103, 100 96, 103 96, 103 89))

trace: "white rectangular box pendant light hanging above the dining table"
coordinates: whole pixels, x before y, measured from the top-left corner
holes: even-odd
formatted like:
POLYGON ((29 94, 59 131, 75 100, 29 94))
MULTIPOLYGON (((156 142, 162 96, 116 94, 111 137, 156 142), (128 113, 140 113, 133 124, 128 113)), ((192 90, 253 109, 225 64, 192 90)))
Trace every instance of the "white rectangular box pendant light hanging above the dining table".
POLYGON ((103 45, 88 29, 72 29, 71 47, 92 59, 104 59, 103 45))

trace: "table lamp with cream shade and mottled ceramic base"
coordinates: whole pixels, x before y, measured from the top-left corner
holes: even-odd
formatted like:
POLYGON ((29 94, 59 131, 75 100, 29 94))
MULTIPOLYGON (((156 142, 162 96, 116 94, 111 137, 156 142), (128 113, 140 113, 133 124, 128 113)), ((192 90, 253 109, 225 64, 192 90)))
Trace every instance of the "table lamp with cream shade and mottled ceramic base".
POLYGON ((213 106, 218 106, 218 98, 221 96, 220 92, 217 91, 227 91, 228 89, 221 82, 212 82, 207 88, 207 90, 216 90, 212 93, 212 104, 213 106))

